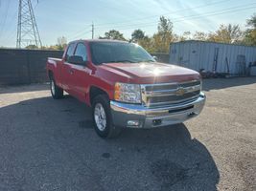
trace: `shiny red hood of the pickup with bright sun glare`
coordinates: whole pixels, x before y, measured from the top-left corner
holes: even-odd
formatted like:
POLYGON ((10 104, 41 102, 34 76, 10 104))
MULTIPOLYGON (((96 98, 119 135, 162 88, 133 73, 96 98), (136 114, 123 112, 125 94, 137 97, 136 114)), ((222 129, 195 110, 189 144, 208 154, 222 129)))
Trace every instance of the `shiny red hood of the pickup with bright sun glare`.
POLYGON ((198 72, 173 64, 154 63, 105 63, 105 70, 123 75, 127 82, 132 83, 166 83, 183 82, 199 79, 198 72))

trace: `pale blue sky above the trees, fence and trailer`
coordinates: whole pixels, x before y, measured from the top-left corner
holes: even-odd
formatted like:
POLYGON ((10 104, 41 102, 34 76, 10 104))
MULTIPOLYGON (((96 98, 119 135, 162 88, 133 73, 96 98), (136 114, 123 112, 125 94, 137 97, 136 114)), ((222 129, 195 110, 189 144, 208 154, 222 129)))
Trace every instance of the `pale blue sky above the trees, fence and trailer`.
MULTIPOLYGON (((130 38, 141 29, 151 35, 157 30, 160 15, 174 22, 174 31, 213 32, 221 24, 240 24, 256 12, 255 0, 32 0, 43 45, 91 38, 115 29, 130 38)), ((0 46, 15 47, 18 0, 0 0, 0 46)))

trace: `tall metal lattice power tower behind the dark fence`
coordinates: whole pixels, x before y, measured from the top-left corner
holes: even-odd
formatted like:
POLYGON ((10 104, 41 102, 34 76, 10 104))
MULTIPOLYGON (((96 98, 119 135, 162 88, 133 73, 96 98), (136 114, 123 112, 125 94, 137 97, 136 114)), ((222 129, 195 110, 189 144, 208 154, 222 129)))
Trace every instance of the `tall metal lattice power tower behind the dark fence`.
POLYGON ((19 0, 16 48, 42 47, 31 0, 19 0))

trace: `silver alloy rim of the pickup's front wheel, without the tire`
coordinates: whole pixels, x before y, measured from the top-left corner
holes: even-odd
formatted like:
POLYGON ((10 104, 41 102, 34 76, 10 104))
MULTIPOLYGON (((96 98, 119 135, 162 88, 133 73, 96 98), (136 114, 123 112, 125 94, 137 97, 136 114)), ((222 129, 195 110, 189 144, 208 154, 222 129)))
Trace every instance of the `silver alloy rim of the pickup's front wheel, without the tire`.
POLYGON ((94 109, 94 119, 97 125, 97 128, 100 131, 104 131, 106 127, 106 115, 104 106, 101 103, 97 103, 94 109))

